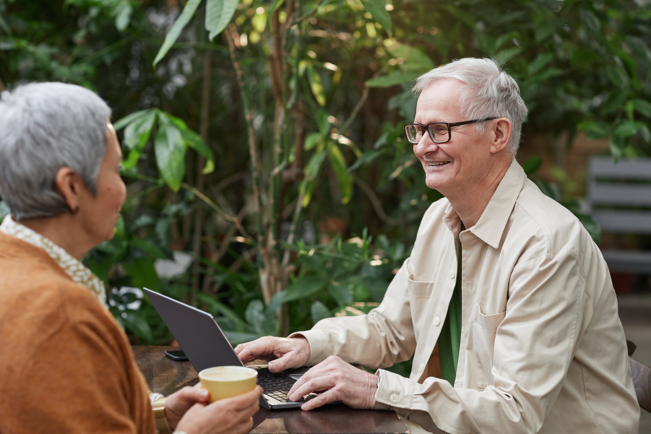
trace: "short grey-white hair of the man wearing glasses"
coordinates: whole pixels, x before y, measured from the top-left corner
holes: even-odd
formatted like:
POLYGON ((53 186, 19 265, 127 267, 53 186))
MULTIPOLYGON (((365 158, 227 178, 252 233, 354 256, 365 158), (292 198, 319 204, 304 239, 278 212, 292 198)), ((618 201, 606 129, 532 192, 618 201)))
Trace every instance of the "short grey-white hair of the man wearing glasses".
MULTIPOLYGON (((464 83, 460 92, 461 113, 468 120, 491 117, 510 120, 513 134, 508 141, 508 149, 513 155, 518 152, 527 106, 513 77, 506 74, 493 59, 465 57, 422 74, 416 79, 413 92, 418 95, 441 79, 456 79, 464 83)), ((475 129, 483 133, 486 123, 478 122, 475 129)))

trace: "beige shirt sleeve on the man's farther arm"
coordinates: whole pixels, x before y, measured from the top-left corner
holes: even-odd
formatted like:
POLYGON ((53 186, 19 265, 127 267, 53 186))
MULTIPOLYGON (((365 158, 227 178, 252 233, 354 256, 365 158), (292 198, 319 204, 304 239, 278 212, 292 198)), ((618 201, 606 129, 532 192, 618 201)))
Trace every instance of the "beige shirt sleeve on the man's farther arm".
POLYGON ((309 331, 290 334, 307 338, 311 349, 307 366, 333 354, 374 368, 408 360, 416 347, 407 295, 410 273, 408 259, 391 280, 380 306, 368 315, 326 318, 309 331))

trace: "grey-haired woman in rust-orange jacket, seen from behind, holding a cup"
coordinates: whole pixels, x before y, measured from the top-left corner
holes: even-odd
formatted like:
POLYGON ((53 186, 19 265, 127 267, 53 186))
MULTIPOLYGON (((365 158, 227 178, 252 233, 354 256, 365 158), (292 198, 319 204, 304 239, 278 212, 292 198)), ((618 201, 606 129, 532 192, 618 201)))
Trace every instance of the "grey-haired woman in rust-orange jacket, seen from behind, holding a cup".
MULTIPOLYGON (((81 264, 126 196, 111 110, 90 90, 33 83, 0 98, 0 432, 245 433, 257 388, 205 402, 186 387, 154 417, 102 281, 81 264)), ((160 402, 160 400, 159 400, 160 402)))

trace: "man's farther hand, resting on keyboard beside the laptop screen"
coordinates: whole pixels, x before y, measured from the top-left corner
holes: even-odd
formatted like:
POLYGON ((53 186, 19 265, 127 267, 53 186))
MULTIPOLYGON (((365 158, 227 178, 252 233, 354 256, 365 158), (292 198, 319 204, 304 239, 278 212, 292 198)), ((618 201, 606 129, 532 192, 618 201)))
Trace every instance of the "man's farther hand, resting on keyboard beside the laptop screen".
POLYGON ((303 336, 296 338, 264 336, 264 338, 236 346, 235 353, 243 363, 255 359, 271 360, 269 370, 281 372, 305 365, 310 359, 310 344, 303 336))

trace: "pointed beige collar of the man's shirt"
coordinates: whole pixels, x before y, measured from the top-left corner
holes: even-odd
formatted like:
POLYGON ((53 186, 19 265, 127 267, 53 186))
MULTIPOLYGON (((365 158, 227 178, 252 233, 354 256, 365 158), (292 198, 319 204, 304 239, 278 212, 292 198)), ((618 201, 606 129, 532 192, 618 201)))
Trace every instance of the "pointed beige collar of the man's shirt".
MULTIPOLYGON (((526 179, 527 175, 514 158, 499 185, 497 185, 497 189, 495 189, 495 193, 493 193, 493 197, 488 202, 486 209, 479 217, 479 221, 475 226, 468 228, 470 232, 493 247, 493 249, 499 247, 499 241, 502 239, 506 222, 511 215, 516 200, 518 200, 526 179)), ((448 204, 443 214, 443 222, 455 236, 458 235, 461 219, 450 204, 448 204)))

